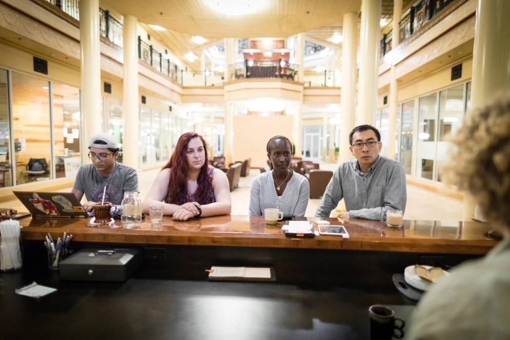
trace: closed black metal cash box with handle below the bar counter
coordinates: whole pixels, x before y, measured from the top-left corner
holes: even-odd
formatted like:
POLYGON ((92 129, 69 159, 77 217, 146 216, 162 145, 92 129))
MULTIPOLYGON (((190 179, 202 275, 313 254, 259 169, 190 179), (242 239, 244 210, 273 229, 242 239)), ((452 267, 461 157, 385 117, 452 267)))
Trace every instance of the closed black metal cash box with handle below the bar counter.
POLYGON ((60 279, 126 281, 142 264, 138 248, 84 248, 62 260, 60 279))

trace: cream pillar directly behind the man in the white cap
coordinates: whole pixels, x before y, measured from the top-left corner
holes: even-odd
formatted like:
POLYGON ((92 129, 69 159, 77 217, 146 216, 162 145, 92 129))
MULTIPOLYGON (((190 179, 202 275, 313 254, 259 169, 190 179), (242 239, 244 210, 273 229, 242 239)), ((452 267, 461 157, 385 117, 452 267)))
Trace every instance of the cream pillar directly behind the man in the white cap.
POLYGON ((82 162, 87 164, 90 138, 102 132, 99 0, 82 0, 80 17, 82 162))

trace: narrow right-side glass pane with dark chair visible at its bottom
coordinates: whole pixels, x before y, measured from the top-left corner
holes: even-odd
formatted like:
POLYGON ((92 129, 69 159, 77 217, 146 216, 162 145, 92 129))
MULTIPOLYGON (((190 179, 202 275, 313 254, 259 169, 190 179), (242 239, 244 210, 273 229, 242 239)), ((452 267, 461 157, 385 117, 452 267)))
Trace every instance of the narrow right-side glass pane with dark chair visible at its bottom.
POLYGON ((416 176, 434 179, 436 159, 437 93, 420 98, 418 106, 418 145, 416 176))

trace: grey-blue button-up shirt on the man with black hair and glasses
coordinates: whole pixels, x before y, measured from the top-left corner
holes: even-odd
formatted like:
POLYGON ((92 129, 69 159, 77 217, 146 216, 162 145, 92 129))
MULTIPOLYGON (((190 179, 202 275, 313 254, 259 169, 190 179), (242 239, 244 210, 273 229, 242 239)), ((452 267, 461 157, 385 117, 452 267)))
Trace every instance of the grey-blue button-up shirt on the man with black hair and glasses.
POLYGON ((388 208, 405 210, 405 172, 393 159, 379 155, 361 172, 357 159, 342 163, 326 188, 316 216, 329 217, 344 198, 350 218, 380 219, 388 208))

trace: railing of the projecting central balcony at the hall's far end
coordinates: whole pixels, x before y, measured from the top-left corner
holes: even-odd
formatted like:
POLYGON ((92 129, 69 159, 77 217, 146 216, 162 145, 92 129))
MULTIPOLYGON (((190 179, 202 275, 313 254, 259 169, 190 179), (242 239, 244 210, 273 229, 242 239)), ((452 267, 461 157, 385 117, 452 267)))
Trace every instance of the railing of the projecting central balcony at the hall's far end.
POLYGON ((282 59, 272 61, 249 61, 232 64, 228 68, 229 80, 242 78, 284 78, 294 80, 298 65, 282 59))

